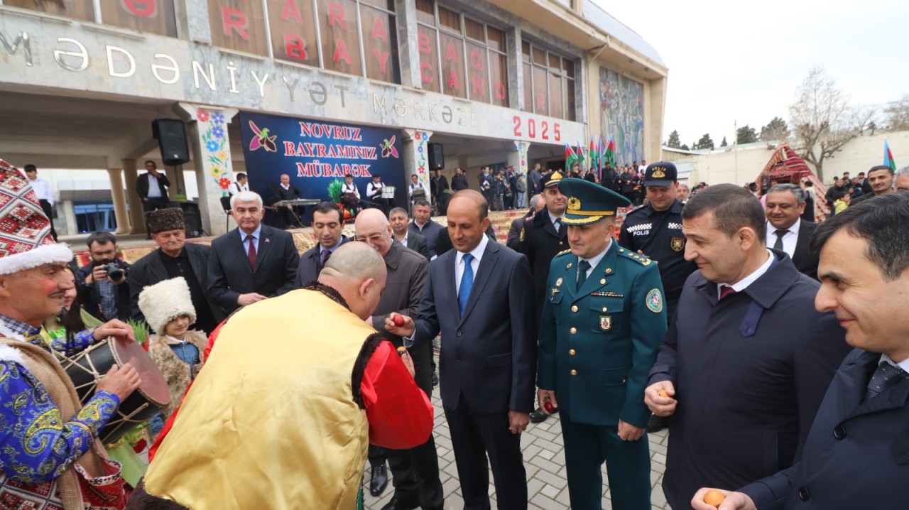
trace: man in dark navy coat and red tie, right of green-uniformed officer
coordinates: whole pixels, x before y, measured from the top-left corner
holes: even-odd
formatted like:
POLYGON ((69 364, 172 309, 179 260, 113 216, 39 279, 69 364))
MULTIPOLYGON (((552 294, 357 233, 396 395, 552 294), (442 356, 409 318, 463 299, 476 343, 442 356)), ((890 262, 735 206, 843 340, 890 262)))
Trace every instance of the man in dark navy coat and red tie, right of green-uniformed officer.
POLYGON ((814 309, 820 284, 766 248, 764 210, 747 189, 704 188, 682 222, 685 258, 700 269, 644 391, 655 415, 671 416, 663 491, 673 508, 704 485, 739 487, 792 465, 849 351, 836 317, 814 309))

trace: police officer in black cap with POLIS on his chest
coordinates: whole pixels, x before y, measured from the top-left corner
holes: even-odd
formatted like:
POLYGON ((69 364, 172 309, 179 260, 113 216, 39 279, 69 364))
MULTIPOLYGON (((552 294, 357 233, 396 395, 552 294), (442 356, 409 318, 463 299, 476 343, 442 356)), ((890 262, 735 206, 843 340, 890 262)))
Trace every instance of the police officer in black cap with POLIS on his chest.
MULTIPOLYGON (((657 267, 666 292, 666 317, 671 321, 684 281, 697 269, 694 261, 684 259, 684 204, 676 197, 679 183, 675 165, 664 161, 647 165, 644 188, 647 205, 625 216, 619 244, 659 263, 657 267)), ((654 415, 647 425, 647 432, 657 432, 667 423, 666 418, 654 415)))

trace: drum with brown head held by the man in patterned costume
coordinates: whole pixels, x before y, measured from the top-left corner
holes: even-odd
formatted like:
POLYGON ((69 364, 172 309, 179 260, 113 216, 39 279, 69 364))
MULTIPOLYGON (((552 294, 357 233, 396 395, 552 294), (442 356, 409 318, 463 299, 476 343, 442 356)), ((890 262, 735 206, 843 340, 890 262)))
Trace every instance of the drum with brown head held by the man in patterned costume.
POLYGON ((83 405, 95 395, 98 380, 115 364, 123 366, 128 363, 139 373, 142 384, 120 403, 116 415, 98 434, 105 445, 114 443, 135 425, 147 421, 170 404, 165 376, 145 349, 135 342, 111 337, 73 356, 58 352, 55 355, 60 359, 66 375, 73 381, 75 393, 83 405))

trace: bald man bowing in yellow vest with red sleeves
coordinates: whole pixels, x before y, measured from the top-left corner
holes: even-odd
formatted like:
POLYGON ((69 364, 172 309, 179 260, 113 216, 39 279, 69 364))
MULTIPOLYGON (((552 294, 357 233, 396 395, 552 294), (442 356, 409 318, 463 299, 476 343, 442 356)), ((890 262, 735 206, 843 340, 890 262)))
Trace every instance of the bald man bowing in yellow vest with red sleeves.
POLYGON ((365 323, 385 275, 346 243, 316 284, 230 317, 127 508, 360 506, 366 446, 422 445, 433 427, 410 358, 365 323))

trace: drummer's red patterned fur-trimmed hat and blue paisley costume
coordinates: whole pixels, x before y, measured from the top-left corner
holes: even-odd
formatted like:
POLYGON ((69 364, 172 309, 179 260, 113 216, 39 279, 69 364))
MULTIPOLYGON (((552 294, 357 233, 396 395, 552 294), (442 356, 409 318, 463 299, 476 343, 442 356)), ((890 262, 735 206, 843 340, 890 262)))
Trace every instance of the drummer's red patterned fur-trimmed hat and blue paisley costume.
MULTIPOLYGON (((28 180, 0 160, 0 275, 73 253, 57 245, 28 180)), ((91 335, 77 336, 77 348, 91 335)), ((120 401, 98 392, 79 404, 75 388, 47 352, 40 328, 0 315, 0 505, 35 510, 121 509, 120 465, 95 437, 120 401)))

